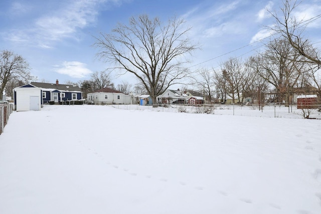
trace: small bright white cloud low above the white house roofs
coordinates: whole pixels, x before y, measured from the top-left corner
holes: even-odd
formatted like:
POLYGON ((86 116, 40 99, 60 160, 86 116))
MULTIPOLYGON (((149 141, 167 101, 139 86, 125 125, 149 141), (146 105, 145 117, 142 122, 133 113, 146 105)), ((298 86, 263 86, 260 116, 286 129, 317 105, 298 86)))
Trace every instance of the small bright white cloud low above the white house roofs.
POLYGON ((55 65, 54 67, 55 72, 65 74, 73 78, 83 78, 92 73, 92 71, 86 68, 86 64, 77 61, 65 61, 62 65, 55 65))

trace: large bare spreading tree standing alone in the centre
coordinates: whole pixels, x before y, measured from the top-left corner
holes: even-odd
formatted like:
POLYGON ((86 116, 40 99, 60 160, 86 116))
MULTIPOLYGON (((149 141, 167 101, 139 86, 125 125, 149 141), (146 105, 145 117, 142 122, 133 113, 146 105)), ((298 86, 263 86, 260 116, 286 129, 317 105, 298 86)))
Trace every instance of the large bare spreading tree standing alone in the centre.
POLYGON ((148 15, 132 17, 128 26, 118 24, 111 34, 96 38, 98 56, 137 77, 155 104, 158 95, 187 76, 184 56, 197 49, 183 24, 176 18, 162 25, 148 15))

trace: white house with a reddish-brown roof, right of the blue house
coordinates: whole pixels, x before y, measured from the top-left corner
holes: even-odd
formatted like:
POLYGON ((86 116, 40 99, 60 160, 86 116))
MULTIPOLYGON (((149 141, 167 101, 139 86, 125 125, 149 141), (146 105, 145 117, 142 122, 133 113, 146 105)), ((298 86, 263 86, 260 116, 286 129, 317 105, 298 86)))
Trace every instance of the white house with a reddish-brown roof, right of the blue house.
POLYGON ((92 104, 130 104, 131 96, 120 91, 103 88, 87 94, 88 103, 92 104))

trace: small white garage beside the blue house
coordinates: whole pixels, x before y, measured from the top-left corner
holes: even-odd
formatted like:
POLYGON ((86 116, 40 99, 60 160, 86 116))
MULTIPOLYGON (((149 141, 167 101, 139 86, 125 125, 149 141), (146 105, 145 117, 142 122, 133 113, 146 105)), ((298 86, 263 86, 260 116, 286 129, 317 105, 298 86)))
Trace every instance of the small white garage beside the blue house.
POLYGON ((41 88, 27 84, 14 89, 15 109, 17 111, 39 111, 42 107, 41 88))

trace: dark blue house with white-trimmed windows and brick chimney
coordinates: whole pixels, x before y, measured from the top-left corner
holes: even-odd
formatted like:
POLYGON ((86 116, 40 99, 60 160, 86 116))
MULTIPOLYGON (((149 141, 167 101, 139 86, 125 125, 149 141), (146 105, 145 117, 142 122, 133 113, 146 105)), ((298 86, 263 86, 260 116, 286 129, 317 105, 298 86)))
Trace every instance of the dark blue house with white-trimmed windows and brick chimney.
POLYGON ((42 89, 42 100, 44 104, 50 101, 54 103, 82 100, 82 92, 78 86, 54 83, 31 82, 31 85, 42 89))

